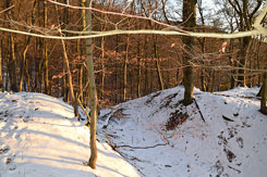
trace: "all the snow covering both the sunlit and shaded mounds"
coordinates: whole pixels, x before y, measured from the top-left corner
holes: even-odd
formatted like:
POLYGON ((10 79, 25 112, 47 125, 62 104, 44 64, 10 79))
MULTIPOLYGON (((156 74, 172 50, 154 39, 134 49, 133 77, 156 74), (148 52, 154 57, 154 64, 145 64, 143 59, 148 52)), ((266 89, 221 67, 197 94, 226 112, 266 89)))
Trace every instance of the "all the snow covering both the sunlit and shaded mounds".
POLYGON ((259 88, 175 87, 100 111, 97 169, 89 130, 69 104, 41 93, 0 92, 0 177, 262 177, 267 174, 267 116, 259 88), (203 115, 203 118, 201 116, 203 115))

